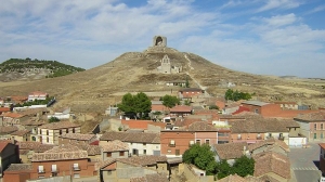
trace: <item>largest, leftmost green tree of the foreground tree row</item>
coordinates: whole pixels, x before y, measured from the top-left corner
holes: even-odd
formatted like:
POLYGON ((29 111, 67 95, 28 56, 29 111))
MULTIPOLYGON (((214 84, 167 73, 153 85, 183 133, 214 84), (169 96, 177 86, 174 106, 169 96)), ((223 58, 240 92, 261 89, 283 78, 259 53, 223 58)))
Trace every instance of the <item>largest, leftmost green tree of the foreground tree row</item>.
POLYGON ((214 153, 210 151, 208 144, 194 144, 184 152, 182 157, 184 162, 193 164, 199 169, 206 170, 207 174, 216 173, 214 153))

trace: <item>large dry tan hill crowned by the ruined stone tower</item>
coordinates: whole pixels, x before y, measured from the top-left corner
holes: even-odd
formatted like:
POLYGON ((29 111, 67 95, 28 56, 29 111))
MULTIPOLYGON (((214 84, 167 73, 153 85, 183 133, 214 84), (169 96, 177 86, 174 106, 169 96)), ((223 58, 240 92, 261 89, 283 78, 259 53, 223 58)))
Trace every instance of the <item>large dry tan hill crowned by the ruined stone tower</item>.
POLYGON ((320 106, 324 86, 318 80, 283 79, 252 75, 216 65, 196 54, 171 48, 150 47, 143 52, 128 52, 102 66, 64 77, 29 82, 0 83, 0 95, 26 94, 41 90, 58 99, 57 106, 72 106, 76 112, 103 113, 120 101, 126 92, 142 91, 150 96, 177 94, 180 87, 166 81, 190 79, 191 87, 202 87, 210 95, 224 95, 229 87, 256 93, 263 101, 296 101, 320 106), (171 74, 161 73, 161 58, 170 58, 171 74))

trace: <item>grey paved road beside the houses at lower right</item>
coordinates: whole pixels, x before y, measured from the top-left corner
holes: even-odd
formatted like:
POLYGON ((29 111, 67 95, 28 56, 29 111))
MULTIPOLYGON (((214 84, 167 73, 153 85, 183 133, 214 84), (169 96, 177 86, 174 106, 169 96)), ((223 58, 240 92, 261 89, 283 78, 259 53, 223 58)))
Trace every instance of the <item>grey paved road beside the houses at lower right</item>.
POLYGON ((320 161, 320 146, 317 143, 309 143, 309 146, 290 148, 288 157, 297 182, 314 182, 321 178, 321 171, 316 166, 320 161))

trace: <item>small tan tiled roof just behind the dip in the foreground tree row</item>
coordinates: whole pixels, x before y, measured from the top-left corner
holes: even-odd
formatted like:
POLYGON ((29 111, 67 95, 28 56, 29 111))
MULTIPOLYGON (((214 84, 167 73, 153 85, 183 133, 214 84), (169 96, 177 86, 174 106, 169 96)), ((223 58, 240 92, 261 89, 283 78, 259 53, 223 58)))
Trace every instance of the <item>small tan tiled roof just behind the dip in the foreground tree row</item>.
POLYGON ((244 155, 244 150, 247 148, 246 142, 214 144, 213 147, 220 159, 240 158, 244 155))

